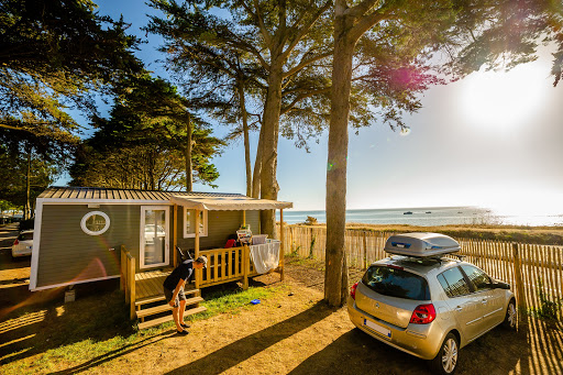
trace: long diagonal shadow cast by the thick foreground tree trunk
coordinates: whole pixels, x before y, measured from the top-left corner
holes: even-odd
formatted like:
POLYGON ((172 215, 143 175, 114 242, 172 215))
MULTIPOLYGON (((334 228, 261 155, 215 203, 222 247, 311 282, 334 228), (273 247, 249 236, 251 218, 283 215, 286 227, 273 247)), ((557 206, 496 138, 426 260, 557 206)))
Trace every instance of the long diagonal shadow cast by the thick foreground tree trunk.
POLYGON ((303 312, 238 340, 168 374, 220 374, 275 343, 321 321, 333 311, 323 302, 318 302, 303 312))

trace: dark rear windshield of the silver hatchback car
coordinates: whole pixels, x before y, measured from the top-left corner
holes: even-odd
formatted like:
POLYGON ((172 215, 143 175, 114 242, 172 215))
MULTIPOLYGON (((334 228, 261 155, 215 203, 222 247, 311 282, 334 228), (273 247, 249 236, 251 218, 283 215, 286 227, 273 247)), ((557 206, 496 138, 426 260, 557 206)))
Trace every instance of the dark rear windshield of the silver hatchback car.
POLYGON ((429 300, 430 290, 426 278, 405 269, 371 266, 362 283, 384 296, 429 300))

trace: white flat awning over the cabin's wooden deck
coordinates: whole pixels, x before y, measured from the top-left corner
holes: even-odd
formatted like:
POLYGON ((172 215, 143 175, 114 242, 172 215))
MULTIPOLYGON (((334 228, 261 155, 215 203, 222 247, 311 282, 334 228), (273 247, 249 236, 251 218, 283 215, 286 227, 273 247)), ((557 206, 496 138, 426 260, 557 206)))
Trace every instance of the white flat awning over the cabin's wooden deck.
POLYGON ((252 211, 291 208, 294 203, 278 200, 240 197, 186 197, 172 196, 173 203, 190 210, 209 211, 252 211))

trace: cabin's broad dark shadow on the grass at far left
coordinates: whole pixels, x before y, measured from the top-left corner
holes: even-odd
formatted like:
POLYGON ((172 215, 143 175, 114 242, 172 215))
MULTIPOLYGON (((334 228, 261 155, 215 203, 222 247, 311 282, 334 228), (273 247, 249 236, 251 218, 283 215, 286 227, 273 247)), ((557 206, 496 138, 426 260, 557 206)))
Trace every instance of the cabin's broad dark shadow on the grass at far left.
POLYGON ((63 302, 64 288, 48 294, 15 290, 23 300, 0 311, 0 364, 87 339, 101 342, 135 333, 119 280, 88 283, 75 289, 77 300, 68 304, 63 302))

